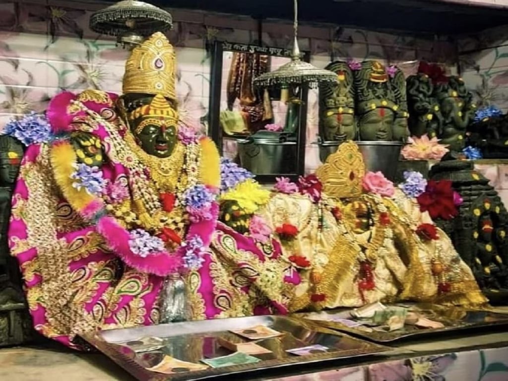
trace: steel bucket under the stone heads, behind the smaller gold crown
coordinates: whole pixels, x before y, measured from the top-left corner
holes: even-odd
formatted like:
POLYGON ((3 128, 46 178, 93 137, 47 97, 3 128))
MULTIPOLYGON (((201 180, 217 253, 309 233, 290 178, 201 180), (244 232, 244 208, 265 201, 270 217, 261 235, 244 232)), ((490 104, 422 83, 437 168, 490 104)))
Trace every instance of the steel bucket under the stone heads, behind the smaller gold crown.
MULTIPOLYGON (((318 142, 320 159, 326 162, 327 157, 337 151, 341 142, 318 142)), ((369 141, 355 142, 362 152, 365 168, 367 171, 381 171, 389 180, 395 181, 397 165, 399 163, 400 150, 403 144, 400 142, 369 141)))

